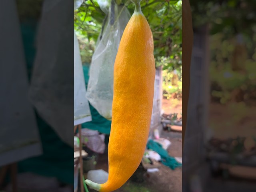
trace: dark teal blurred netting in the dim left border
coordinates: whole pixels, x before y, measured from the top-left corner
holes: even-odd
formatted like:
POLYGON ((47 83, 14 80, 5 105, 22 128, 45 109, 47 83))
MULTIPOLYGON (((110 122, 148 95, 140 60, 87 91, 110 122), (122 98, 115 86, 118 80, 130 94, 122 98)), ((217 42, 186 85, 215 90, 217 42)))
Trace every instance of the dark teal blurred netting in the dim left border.
MULTIPOLYGON (((38 22, 33 20, 21 23, 29 79, 36 54, 35 37, 37 24, 38 22)), ((43 154, 18 162, 18 172, 33 172, 42 176, 56 177, 60 182, 73 185, 74 148, 64 143, 52 127, 42 120, 40 116, 37 115, 36 118, 43 154)))

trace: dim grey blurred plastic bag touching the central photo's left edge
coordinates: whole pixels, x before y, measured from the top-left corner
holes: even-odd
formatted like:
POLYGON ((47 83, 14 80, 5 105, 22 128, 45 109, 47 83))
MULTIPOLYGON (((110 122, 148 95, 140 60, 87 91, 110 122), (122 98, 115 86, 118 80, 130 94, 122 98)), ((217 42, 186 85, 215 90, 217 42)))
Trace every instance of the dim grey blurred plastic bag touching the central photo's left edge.
POLYGON ((37 54, 30 86, 30 100, 40 116, 55 130, 60 138, 74 146, 74 123, 67 117, 74 110, 74 23, 72 1, 44 0, 37 54), (71 8, 71 9, 70 9, 71 8))

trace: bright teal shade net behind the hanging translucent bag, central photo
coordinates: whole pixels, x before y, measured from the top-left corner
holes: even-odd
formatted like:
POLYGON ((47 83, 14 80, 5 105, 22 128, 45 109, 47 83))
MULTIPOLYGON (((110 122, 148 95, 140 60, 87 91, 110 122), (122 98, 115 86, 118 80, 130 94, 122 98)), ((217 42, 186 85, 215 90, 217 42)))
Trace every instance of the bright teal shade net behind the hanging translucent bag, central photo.
MULTIPOLYGON (((89 75, 88 75, 89 67, 83 66, 83 69, 84 69, 84 80, 87 88, 88 80, 89 80, 89 75)), ((90 104, 90 102, 89 102, 89 106, 92 114, 92 121, 83 123, 82 128, 88 128, 92 130, 97 130, 100 133, 110 134, 111 121, 102 117, 98 113, 98 111, 90 104)))

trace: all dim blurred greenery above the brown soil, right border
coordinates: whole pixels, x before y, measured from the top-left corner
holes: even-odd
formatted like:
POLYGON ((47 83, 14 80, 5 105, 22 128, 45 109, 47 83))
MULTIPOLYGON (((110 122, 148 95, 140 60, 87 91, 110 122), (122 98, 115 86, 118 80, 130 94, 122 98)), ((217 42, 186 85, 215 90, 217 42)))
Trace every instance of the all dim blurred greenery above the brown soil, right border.
POLYGON ((210 29, 212 100, 256 98, 256 1, 190 0, 193 26, 210 29))

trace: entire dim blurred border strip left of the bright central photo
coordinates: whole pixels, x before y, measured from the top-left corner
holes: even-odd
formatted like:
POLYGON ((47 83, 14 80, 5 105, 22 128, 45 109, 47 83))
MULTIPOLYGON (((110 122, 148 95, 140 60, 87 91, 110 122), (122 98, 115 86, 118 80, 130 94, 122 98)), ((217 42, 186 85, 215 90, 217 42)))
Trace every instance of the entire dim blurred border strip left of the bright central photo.
POLYGON ((2 0, 0 14, 0 190, 72 191, 73 2, 2 0))

